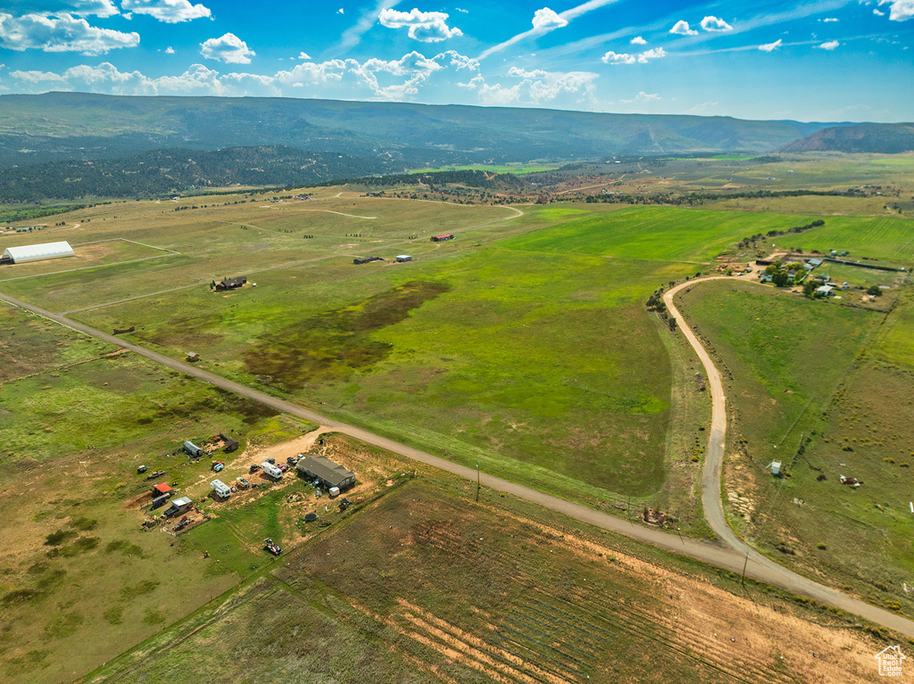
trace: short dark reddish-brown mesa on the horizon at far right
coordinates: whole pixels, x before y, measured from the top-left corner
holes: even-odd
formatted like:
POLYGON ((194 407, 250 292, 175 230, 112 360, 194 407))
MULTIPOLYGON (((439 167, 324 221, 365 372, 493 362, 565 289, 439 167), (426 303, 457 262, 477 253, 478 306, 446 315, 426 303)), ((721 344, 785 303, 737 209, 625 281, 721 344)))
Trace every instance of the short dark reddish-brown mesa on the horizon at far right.
POLYGON ((914 123, 859 123, 830 127, 781 147, 779 152, 898 154, 914 151, 914 123))

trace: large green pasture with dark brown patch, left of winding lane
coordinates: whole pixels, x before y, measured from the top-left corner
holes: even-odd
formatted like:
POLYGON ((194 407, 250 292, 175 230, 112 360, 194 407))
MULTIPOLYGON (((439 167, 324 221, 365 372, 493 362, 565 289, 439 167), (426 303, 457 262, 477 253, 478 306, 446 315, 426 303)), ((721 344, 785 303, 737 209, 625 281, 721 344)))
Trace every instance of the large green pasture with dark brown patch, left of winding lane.
POLYGON ((500 474, 554 475, 597 498, 657 489, 670 368, 643 300, 685 268, 444 249, 396 267, 276 270, 229 298, 193 290, 78 317, 135 321, 136 342, 192 348, 216 373, 457 460, 482 456, 500 474))

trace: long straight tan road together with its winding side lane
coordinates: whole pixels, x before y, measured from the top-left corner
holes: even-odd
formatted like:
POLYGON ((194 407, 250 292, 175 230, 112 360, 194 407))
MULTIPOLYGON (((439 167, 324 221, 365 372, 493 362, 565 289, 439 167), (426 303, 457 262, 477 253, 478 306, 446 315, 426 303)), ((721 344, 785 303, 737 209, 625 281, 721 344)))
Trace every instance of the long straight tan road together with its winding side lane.
MULTIPOLYGON (((693 280, 692 282, 695 283, 697 281, 693 280)), ((345 423, 341 423, 340 421, 334 420, 332 418, 321 416, 320 414, 304 408, 301 405, 293 404, 292 402, 278 399, 274 396, 265 395, 262 392, 247 387, 243 384, 233 383, 232 381, 219 375, 207 373, 207 371, 204 371, 197 366, 175 361, 175 359, 169 358, 163 354, 151 352, 148 349, 143 349, 143 347, 137 346, 136 344, 131 344, 130 342, 124 342, 114 335, 109 335, 106 332, 90 328, 90 326, 83 325, 77 321, 70 321, 66 316, 52 313, 51 311, 41 309, 31 304, 27 304, 24 301, 17 300, 16 298, 5 295, 2 292, 0 292, 0 300, 14 304, 18 307, 21 307, 22 309, 30 310, 40 316, 48 318, 51 321, 57 321, 62 325, 66 325, 74 330, 84 332, 85 334, 103 340, 104 342, 110 342, 119 347, 130 350, 131 352, 141 354, 147 359, 150 359, 155 363, 161 363, 162 365, 165 365, 168 368, 172 368, 175 371, 191 375, 209 384, 221 387, 222 389, 226 389, 238 395, 246 396, 250 399, 253 399, 254 401, 260 402, 263 405, 271 406, 271 408, 274 408, 282 413, 292 414, 293 416, 301 416, 307 420, 317 423, 318 425, 332 427, 335 430, 344 433, 345 435, 356 437, 356 439, 360 439, 367 444, 386 448, 401 456, 412 458, 419 461, 420 463, 424 463, 434 468, 440 468, 441 470, 453 473, 454 475, 458 475, 462 478, 471 480, 476 479, 476 471, 473 468, 466 468, 465 466, 452 463, 451 461, 445 460, 443 458, 432 456, 431 454, 428 454, 424 451, 420 451, 420 449, 408 447, 404 444, 399 444, 399 442, 388 439, 387 437, 380 437, 359 427, 346 425, 345 423)), ((679 319, 681 329, 683 331, 687 331, 688 329, 683 324, 682 318, 677 311, 675 312, 675 316, 677 316, 679 319)), ((689 335, 686 334, 686 337, 689 337, 689 335)), ((706 363, 709 380, 711 377, 717 377, 717 384, 719 385, 720 378, 719 375, 717 375, 717 369, 714 368, 714 364, 710 362, 710 358, 707 357, 707 353, 704 353, 704 348, 701 347, 701 345, 697 342, 694 335, 691 336, 689 341, 692 342, 693 345, 697 345, 696 351, 701 350, 699 355, 704 354, 702 360, 703 363, 706 363)), ((710 474, 707 474, 706 472, 706 483, 713 480, 714 477, 718 478, 717 483, 719 483, 719 463, 723 457, 723 428, 726 427, 726 419, 723 414, 724 405, 722 385, 719 387, 718 392, 719 394, 716 394, 712 386, 712 397, 719 396, 719 401, 715 400, 714 411, 716 415, 718 411, 720 413, 717 418, 717 422, 712 421, 712 436, 711 443, 708 445, 709 453, 706 458, 706 470, 708 469, 707 463, 712 461, 710 456, 712 449, 719 449, 719 455, 717 456, 717 466, 710 468, 710 474), (720 421, 723 422, 721 423, 720 421), (718 425, 721 428, 717 433, 713 427, 715 425, 718 425), (716 447, 714 446, 715 444, 717 445, 716 447)), ((735 534, 733 534, 732 531, 729 531, 729 528, 726 526, 726 522, 723 522, 723 527, 720 526, 721 523, 719 521, 712 522, 712 529, 719 528, 719 531, 717 529, 715 529, 715 531, 720 535, 722 542, 707 542, 704 540, 685 539, 661 530, 633 525, 630 521, 624 521, 600 510, 593 510, 585 506, 581 506, 577 503, 572 503, 571 501, 558 499, 558 497, 550 496, 541 491, 537 491, 536 489, 530 489, 522 485, 515 484, 514 482, 509 482, 505 479, 495 478, 491 475, 482 474, 481 480, 482 484, 489 489, 495 489, 498 491, 504 491, 508 494, 513 494, 519 499, 537 503, 538 505, 543 506, 549 510, 557 510, 558 512, 569 515, 576 520, 587 522, 604 530, 624 534, 625 536, 631 537, 632 539, 649 543, 657 548, 664 549, 665 551, 680 553, 705 563, 711 563, 712 565, 716 565, 717 567, 729 570, 734 573, 742 573, 743 564, 746 563, 746 575, 748 577, 752 577, 766 584, 781 587, 781 589, 785 589, 789 592, 792 592, 793 594, 809 596, 810 598, 814 598, 819 603, 825 605, 837 606, 849 613, 866 617, 867 620, 894 629, 906 637, 914 638, 914 622, 901 616, 897 616, 894 613, 889 613, 886 610, 881 610, 872 605, 866 604, 862 601, 857 601, 850 596, 846 596, 840 592, 834 591, 834 589, 823 586, 822 584, 817 584, 812 580, 808 580, 805 577, 801 577, 798 574, 792 573, 786 568, 781 567, 781 565, 778 565, 777 563, 772 562, 770 559, 761 556, 759 553, 751 551, 749 547, 747 547, 743 542, 739 540, 738 537, 736 537, 735 534)), ((706 488, 706 491, 709 491, 710 489, 714 489, 717 492, 717 496, 711 497, 710 501, 705 500, 706 511, 713 509, 716 505, 717 508, 720 509, 720 520, 722 521, 723 509, 721 508, 720 504, 719 484, 715 484, 712 481, 711 487, 706 488), (714 500, 717 501, 716 504, 714 504, 714 500)))

